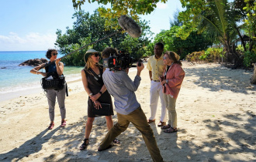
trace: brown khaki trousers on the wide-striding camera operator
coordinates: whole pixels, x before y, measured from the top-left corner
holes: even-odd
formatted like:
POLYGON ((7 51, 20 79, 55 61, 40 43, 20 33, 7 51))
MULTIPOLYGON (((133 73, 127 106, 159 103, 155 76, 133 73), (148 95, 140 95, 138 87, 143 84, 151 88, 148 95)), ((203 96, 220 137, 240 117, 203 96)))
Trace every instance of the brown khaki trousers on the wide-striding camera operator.
POLYGON ((117 120, 117 123, 112 127, 111 130, 109 130, 104 140, 102 140, 102 143, 99 146, 101 149, 106 149, 106 147, 109 147, 112 141, 118 137, 120 133, 125 131, 130 123, 133 123, 133 126, 136 127, 137 130, 139 130, 142 134, 152 159, 157 162, 163 161, 163 157, 161 157, 160 150, 158 149, 157 142, 154 138, 153 130, 147 123, 147 117, 145 116, 141 107, 128 115, 117 113, 117 120))

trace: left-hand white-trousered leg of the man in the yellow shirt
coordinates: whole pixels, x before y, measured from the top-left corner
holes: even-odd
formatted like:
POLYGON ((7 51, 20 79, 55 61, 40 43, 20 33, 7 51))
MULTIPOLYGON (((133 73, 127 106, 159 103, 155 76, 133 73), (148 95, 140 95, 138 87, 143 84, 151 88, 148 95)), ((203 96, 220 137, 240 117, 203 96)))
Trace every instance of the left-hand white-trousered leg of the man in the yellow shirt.
POLYGON ((154 120, 157 113, 157 103, 159 93, 157 90, 158 83, 151 81, 150 83, 150 117, 149 120, 154 120))

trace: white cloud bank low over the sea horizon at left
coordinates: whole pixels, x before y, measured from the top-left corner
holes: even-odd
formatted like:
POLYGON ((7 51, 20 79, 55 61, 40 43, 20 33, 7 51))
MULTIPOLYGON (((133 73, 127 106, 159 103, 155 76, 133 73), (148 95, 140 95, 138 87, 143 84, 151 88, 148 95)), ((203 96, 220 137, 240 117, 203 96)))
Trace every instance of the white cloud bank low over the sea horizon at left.
POLYGON ((46 50, 54 47, 56 39, 57 35, 51 32, 29 32, 25 36, 9 32, 9 35, 0 35, 0 51, 46 50))

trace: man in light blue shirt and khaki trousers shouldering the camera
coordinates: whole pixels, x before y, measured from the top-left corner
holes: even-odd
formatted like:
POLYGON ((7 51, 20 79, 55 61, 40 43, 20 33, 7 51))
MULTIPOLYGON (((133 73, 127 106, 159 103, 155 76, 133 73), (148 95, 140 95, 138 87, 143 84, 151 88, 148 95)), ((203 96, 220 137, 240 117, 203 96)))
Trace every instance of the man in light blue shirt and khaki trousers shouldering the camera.
MULTIPOLYGON (((103 59, 109 58, 110 54, 116 54, 116 49, 106 48, 102 52, 103 59)), ((103 81, 109 93, 114 97, 115 110, 117 113, 117 123, 106 134, 106 137, 100 143, 99 151, 109 149, 112 147, 112 140, 114 140, 120 133, 125 131, 130 123, 137 128, 142 134, 146 143, 150 156, 154 161, 163 161, 160 150, 157 147, 157 142, 154 138, 153 130, 147 123, 147 117, 137 102, 135 91, 140 85, 140 73, 144 69, 143 63, 138 66, 137 63, 137 76, 132 80, 124 70, 109 71, 106 68, 103 73, 103 81)))

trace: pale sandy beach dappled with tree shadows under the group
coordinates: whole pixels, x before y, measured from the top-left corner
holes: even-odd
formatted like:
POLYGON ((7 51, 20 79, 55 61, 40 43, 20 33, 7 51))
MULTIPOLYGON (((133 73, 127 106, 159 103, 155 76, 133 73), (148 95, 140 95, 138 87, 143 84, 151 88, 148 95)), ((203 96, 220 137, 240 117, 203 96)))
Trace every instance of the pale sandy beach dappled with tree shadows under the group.
MULTIPOLYGON (((146 66, 146 65, 145 65, 146 66)), ((252 71, 228 69, 220 64, 183 62, 185 79, 177 100, 178 132, 154 130, 164 161, 256 161, 256 86, 252 71)), ((136 70, 130 70, 134 79, 136 70)), ((150 116, 148 70, 136 92, 137 100, 150 116)), ((79 150, 85 134, 88 95, 81 80, 67 83, 69 96, 67 126, 61 128, 58 105, 55 127, 50 123, 47 97, 43 91, 23 94, 0 102, 0 160, 2 161, 152 161, 140 132, 130 124, 118 137, 120 144, 98 152, 107 133, 105 117, 95 118, 90 145, 79 150)), ((116 123, 116 112, 112 116, 116 123)))

